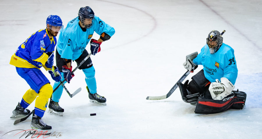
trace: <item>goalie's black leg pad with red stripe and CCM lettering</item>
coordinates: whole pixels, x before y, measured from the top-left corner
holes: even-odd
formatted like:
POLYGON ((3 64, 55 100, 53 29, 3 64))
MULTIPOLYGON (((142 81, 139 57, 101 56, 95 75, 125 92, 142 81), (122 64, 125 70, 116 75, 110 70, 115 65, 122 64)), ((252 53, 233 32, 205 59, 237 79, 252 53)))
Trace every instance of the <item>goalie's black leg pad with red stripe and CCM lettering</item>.
POLYGON ((199 97, 196 114, 214 114, 224 112, 229 109, 243 109, 245 106, 247 94, 241 91, 232 91, 232 93, 222 100, 213 100, 211 98, 199 97))

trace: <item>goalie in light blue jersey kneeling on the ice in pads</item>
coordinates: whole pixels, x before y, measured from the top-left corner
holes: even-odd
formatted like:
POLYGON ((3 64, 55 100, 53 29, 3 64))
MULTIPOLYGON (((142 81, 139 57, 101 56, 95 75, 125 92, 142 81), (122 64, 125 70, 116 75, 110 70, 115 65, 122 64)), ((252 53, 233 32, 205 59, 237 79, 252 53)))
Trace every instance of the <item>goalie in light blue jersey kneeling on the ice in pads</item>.
POLYGON ((211 114, 243 108, 246 94, 232 93, 238 75, 234 50, 223 43, 220 32, 211 31, 201 52, 187 55, 183 63, 190 72, 194 72, 198 65, 203 65, 203 69, 192 77, 192 81, 178 83, 183 101, 197 104, 195 113, 211 114))

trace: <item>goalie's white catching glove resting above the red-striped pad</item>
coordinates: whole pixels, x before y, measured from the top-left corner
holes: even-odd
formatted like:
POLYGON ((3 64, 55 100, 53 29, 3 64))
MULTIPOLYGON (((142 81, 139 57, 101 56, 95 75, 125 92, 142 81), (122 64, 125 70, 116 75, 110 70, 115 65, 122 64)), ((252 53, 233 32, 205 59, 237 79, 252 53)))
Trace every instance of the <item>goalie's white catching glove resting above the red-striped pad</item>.
POLYGON ((222 100, 230 95, 235 88, 235 86, 225 77, 222 77, 220 81, 221 82, 216 79, 216 82, 211 83, 208 88, 213 100, 222 100))

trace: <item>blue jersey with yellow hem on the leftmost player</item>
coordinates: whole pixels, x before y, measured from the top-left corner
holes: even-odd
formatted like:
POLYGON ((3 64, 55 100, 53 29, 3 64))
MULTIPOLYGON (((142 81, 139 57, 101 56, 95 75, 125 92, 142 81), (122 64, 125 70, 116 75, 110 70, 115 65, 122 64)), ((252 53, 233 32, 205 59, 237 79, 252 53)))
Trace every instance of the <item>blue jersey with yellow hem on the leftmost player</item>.
POLYGON ((10 64, 22 68, 40 68, 48 59, 46 52, 54 52, 55 45, 56 37, 50 39, 47 29, 41 29, 17 48, 10 64))

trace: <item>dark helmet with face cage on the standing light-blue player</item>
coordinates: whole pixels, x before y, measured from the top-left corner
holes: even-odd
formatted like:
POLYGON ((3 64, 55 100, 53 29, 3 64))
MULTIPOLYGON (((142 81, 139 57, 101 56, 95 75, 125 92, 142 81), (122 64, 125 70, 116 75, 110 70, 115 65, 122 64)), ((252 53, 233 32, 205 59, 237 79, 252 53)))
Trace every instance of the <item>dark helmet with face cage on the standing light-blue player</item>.
POLYGON ((94 24, 94 21, 93 21, 94 16, 95 16, 95 13, 93 12, 93 10, 89 6, 81 7, 79 9, 78 19, 85 26, 85 28, 89 28, 94 24), (85 19, 92 19, 92 23, 88 24, 88 25, 84 24, 85 19))

